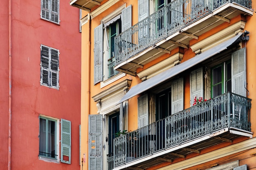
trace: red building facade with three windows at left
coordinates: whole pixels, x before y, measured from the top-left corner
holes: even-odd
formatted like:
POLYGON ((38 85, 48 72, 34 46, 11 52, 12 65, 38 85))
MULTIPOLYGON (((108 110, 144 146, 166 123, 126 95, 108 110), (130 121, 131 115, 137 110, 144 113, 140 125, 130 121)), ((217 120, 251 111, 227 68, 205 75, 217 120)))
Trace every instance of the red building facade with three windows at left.
POLYGON ((7 0, 0 15, 0 169, 78 170, 79 9, 7 0))

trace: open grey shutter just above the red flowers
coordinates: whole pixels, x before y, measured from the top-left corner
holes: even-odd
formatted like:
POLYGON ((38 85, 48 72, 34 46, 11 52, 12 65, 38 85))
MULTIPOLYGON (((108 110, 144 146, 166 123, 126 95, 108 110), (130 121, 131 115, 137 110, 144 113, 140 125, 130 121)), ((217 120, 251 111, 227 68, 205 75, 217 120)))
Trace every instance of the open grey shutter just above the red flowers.
POLYGON ((195 97, 203 97, 203 70, 199 68, 190 73, 190 103, 194 103, 195 97))

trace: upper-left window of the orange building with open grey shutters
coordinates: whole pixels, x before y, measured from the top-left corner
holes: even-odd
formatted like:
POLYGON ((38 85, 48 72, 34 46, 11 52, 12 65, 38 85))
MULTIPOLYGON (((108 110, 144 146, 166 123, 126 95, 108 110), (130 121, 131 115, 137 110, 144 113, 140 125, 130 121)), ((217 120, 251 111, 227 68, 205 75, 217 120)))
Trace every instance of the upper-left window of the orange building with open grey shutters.
POLYGON ((119 73, 115 66, 115 37, 130 28, 132 6, 121 6, 94 29, 94 84, 119 73))

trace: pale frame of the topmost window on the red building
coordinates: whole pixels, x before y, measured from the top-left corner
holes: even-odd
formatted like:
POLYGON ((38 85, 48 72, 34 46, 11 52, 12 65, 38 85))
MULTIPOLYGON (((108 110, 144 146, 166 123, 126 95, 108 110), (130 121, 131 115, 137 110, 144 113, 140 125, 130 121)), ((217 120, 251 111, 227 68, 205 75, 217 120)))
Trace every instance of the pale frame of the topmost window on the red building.
POLYGON ((41 19, 43 20, 47 20, 49 22, 53 22, 55 24, 60 24, 60 1, 59 0, 41 0, 41 19), (58 3, 58 7, 55 8, 56 11, 52 10, 52 1, 56 1, 58 3), (46 3, 48 2, 48 9, 46 6, 46 3), (45 17, 44 14, 45 13, 45 17), (48 16, 46 16, 48 15, 48 16), (54 15, 54 16, 53 16, 54 15), (52 18, 54 18, 57 15, 57 22, 56 22, 56 18, 55 20, 52 20, 52 18))

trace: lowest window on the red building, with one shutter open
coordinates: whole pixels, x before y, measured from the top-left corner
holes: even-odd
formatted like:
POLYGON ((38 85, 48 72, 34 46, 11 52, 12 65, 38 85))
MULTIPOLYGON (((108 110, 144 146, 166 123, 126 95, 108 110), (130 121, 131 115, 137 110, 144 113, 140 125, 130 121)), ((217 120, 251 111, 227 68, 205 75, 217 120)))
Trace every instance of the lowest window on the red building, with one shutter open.
MULTIPOLYGON (((39 156, 59 160, 59 120, 39 117, 39 156)), ((71 122, 61 119, 61 162, 71 163, 71 122)))

